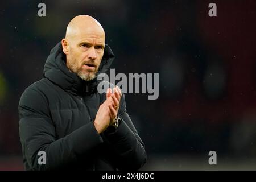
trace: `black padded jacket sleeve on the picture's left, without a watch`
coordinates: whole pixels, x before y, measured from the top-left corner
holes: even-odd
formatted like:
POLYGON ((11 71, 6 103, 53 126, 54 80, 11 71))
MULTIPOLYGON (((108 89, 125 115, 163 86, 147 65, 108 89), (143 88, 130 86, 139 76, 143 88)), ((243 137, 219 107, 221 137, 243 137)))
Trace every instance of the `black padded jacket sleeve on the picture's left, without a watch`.
MULTIPOLYGON (((63 168, 75 163, 77 155, 90 152, 103 142, 92 122, 64 138, 56 139, 55 125, 51 119, 47 99, 33 88, 26 89, 22 94, 18 110, 20 141, 27 169, 63 168), (42 156, 40 151, 46 154, 46 164, 39 164, 42 156)), ((86 156, 90 158, 90 155, 86 156)))

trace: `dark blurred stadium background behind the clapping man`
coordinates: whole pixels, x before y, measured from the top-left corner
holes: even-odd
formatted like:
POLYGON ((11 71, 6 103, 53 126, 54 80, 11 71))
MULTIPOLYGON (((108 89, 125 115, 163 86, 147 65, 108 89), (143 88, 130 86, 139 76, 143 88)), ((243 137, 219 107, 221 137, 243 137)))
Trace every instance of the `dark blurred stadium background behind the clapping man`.
POLYGON ((104 27, 115 74, 159 73, 158 100, 126 94, 142 169, 256 169, 256 1, 57 0, 0 3, 0 170, 23 170, 19 98, 80 14, 104 27))

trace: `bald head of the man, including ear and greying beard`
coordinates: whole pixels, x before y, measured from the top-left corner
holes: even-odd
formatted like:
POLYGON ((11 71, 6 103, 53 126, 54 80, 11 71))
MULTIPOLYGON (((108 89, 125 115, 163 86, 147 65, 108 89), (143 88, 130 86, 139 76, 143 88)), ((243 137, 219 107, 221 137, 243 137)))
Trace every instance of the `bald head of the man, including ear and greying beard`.
POLYGON ((71 72, 86 81, 96 77, 105 48, 105 32, 96 19, 88 15, 73 18, 61 44, 71 72))

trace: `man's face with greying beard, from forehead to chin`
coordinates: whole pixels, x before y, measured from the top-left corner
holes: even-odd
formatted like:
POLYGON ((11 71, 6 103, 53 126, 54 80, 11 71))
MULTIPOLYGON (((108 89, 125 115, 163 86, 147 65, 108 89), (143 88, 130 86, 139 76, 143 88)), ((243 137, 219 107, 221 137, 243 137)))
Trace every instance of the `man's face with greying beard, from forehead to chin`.
POLYGON ((105 34, 95 28, 78 31, 69 40, 67 67, 82 80, 96 77, 104 53, 105 34))

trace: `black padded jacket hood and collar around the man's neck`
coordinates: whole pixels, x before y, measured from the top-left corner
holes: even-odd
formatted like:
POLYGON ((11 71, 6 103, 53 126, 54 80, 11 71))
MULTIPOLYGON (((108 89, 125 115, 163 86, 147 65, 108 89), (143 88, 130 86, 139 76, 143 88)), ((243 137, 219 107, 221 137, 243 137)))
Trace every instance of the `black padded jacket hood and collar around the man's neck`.
MULTIPOLYGON (((110 47, 105 44, 104 55, 98 69, 97 77, 100 73, 105 73, 114 60, 114 54, 110 47)), ((59 85, 65 91, 74 95, 86 96, 96 92, 97 85, 101 80, 97 77, 92 81, 84 81, 76 73, 69 72, 66 66, 66 55, 63 52, 61 42, 52 48, 44 65, 43 76, 59 85)))

